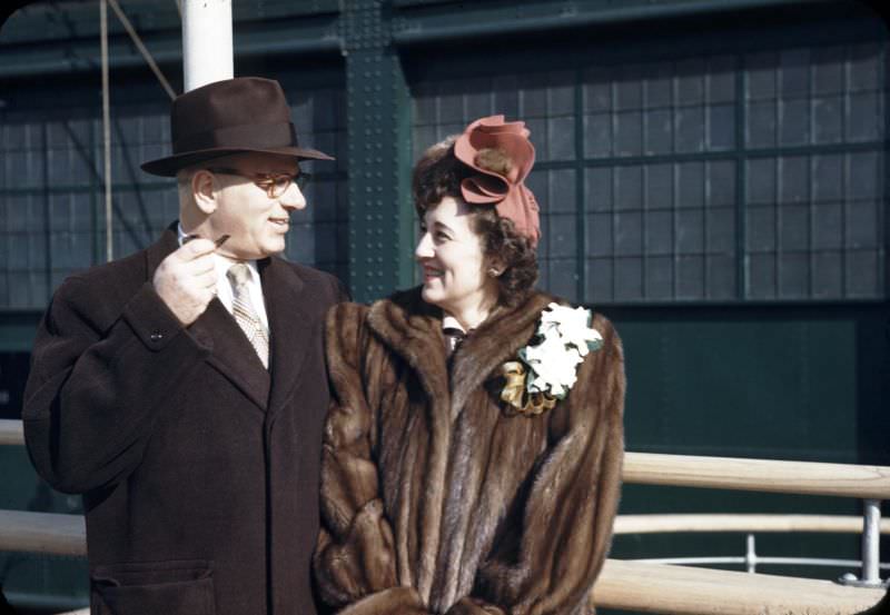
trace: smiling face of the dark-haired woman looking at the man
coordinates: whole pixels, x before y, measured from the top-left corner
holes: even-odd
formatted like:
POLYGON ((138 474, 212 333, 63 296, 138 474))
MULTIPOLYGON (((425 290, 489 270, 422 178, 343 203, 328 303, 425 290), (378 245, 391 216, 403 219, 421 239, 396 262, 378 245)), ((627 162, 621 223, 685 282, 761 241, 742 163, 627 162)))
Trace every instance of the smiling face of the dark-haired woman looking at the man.
POLYGON ((445 197, 426 211, 414 250, 423 267, 423 298, 475 326, 497 297, 497 280, 486 275, 482 236, 473 230, 472 212, 458 199, 445 197))

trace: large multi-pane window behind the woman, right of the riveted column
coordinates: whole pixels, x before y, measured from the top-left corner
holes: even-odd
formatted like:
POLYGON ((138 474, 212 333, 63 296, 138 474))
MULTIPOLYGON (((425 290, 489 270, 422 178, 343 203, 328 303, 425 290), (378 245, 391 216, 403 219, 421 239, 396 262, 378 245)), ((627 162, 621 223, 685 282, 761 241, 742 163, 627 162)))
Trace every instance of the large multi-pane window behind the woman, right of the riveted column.
POLYGON ((589 302, 884 297, 882 44, 497 66, 414 83, 414 153, 479 116, 526 121, 541 287, 589 302))

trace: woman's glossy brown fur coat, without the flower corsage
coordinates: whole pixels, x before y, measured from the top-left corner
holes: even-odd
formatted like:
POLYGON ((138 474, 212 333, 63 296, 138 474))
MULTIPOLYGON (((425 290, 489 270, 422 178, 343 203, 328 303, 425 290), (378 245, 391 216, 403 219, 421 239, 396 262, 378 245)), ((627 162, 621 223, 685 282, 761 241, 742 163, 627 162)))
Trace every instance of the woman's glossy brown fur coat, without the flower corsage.
POLYGON ((418 289, 327 320, 322 598, 349 615, 580 614, 612 536, 623 458, 624 361, 602 349, 538 416, 500 400, 553 297, 498 308, 447 358, 418 289))

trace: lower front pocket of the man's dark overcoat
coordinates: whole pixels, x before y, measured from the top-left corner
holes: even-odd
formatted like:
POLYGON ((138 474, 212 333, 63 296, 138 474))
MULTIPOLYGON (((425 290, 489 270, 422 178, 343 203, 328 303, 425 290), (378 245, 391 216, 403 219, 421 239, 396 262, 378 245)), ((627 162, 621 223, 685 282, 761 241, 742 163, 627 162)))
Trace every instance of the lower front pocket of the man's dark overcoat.
POLYGON ((180 559, 96 566, 91 613, 98 615, 215 615, 210 562, 180 559))

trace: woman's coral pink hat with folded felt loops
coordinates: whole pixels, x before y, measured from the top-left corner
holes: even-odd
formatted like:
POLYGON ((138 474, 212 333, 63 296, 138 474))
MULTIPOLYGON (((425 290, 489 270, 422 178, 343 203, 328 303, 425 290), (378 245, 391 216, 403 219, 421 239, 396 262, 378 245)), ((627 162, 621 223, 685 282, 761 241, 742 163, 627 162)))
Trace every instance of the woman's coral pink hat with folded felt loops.
POLYGON ((497 215, 513 220, 516 231, 535 247, 541 237, 538 207, 524 183, 535 162, 535 148, 528 135, 525 122, 505 122, 504 116, 477 119, 455 141, 454 155, 481 173, 461 182, 464 200, 476 205, 496 204, 497 215), (494 150, 506 158, 505 167, 498 169, 503 172, 479 165, 485 150, 494 150))

